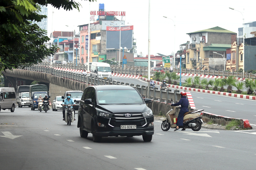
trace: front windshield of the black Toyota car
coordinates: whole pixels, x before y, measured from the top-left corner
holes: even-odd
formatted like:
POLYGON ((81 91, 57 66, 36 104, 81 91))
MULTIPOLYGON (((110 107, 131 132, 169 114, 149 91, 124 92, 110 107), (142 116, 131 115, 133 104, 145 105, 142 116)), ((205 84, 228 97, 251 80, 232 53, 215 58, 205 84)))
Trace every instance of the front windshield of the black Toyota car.
POLYGON ((144 104, 136 90, 97 90, 99 104, 144 104))

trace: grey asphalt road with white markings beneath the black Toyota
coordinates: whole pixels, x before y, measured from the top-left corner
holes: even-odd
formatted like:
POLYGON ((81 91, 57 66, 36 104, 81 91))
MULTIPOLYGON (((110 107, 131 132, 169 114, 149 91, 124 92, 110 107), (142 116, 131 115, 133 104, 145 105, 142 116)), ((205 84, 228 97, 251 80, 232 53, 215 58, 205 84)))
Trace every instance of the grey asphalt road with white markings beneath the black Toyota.
POLYGON ((255 168, 256 130, 163 132, 155 121, 151 142, 134 136, 104 137, 95 143, 91 134, 80 137, 76 122, 69 126, 62 121, 61 111, 1 110, 0 121, 1 170, 255 168))

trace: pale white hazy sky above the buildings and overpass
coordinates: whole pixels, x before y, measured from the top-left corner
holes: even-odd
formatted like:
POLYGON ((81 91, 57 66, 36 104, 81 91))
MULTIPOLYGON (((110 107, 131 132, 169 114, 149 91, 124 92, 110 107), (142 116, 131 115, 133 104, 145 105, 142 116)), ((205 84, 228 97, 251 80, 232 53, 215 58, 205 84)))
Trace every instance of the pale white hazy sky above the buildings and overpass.
MULTIPOLYGON (((48 36, 52 25, 53 31, 72 31, 73 27, 78 32, 77 26, 89 22, 89 11, 98 11, 99 3, 104 3, 105 11, 126 12, 125 23, 134 25, 137 52, 142 52, 144 56, 148 53, 148 0, 97 0, 90 3, 90 10, 88 1, 75 1, 81 3, 80 12, 76 9, 57 10, 48 5, 48 36)), ((242 14, 229 7, 242 13, 244 10, 245 23, 256 21, 255 0, 151 0, 151 54, 169 55, 174 48, 174 23, 163 16, 173 20, 175 16, 175 51, 179 50, 179 45, 189 40, 186 33, 216 26, 238 33, 238 28, 243 27, 242 14)))

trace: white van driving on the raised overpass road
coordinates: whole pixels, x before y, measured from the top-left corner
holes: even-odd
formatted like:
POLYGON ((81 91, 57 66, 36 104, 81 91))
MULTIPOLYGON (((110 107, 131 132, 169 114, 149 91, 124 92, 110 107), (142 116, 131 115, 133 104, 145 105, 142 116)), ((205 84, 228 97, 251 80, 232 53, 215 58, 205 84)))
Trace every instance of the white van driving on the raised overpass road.
POLYGON ((92 62, 90 68, 90 76, 98 79, 112 80, 112 72, 108 63, 92 62))

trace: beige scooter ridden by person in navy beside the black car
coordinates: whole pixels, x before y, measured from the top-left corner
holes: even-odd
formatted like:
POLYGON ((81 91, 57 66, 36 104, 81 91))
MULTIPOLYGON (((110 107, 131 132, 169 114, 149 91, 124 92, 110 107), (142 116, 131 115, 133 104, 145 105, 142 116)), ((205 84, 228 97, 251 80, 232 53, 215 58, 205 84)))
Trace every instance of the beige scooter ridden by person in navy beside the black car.
MULTIPOLYGON (((172 99, 171 99, 172 101, 172 99)), ((165 115, 166 118, 163 119, 161 124, 161 129, 163 131, 168 131, 170 128, 176 128, 177 117, 179 116, 180 108, 179 106, 171 106, 171 110, 165 115)), ((202 127, 202 116, 204 109, 190 111, 184 114, 183 118, 183 128, 192 129, 193 131, 199 131, 202 127)))

